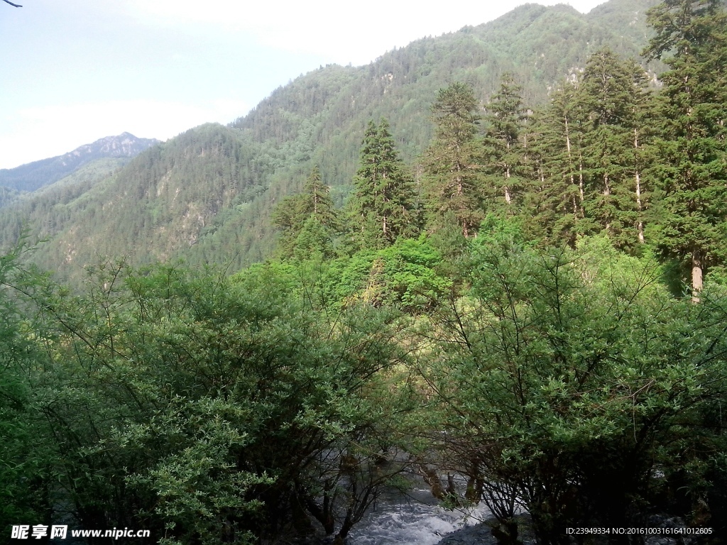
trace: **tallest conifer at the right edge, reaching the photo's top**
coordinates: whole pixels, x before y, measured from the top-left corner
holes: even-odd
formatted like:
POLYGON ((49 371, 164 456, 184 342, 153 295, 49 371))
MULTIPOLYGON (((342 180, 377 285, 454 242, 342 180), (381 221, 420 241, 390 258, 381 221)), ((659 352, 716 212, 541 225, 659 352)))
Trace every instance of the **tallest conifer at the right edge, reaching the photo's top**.
POLYGON ((665 0, 648 22, 656 35, 645 54, 670 68, 660 78, 657 242, 691 265, 698 301, 704 267, 723 259, 727 230, 727 16, 719 0, 665 0))

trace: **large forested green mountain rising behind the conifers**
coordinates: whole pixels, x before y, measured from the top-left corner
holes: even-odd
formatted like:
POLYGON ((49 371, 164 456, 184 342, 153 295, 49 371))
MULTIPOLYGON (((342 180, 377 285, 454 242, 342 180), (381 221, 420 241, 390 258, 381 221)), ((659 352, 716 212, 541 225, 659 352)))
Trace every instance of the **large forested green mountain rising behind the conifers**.
POLYGON ((49 238, 36 262, 71 276, 99 255, 136 263, 183 257, 235 270, 270 255, 270 214, 300 190, 313 164, 342 204, 369 119, 386 117, 404 160, 414 164, 430 140, 438 89, 465 81, 486 104, 508 71, 534 108, 603 46, 638 58, 649 36, 644 14, 655 3, 611 0, 587 15, 562 4, 526 4, 369 65, 321 67, 229 126, 190 129, 92 187, 73 182, 2 211, 0 241, 12 243, 28 225, 49 238))

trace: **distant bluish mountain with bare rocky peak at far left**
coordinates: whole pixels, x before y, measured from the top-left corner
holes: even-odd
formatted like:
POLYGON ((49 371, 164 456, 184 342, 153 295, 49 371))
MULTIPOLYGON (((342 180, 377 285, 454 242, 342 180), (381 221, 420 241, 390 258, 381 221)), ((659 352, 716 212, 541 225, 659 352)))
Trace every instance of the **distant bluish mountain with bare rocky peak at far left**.
POLYGON ((17 191, 34 191, 97 159, 132 158, 158 142, 156 138, 137 138, 128 132, 101 138, 62 156, 33 161, 15 169, 0 169, 0 186, 17 191))

